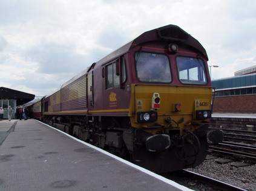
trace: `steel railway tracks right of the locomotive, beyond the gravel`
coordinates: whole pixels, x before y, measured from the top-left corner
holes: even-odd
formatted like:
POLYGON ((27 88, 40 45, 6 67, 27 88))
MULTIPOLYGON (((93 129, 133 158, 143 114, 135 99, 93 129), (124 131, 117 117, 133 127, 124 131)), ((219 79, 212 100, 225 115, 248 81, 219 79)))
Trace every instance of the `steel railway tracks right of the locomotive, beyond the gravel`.
MULTIPOLYGON (((216 128, 210 128, 216 129, 216 128)), ((209 152, 231 155, 256 163, 256 132, 234 129, 222 129, 224 141, 217 145, 210 145, 209 152), (235 142, 234 142, 235 141, 235 142)))

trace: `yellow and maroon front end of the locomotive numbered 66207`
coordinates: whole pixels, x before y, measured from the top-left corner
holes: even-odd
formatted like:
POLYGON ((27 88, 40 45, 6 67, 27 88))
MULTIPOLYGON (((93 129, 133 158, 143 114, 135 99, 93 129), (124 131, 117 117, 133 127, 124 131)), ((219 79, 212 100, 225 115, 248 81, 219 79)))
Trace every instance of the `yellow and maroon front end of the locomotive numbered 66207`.
POLYGON ((176 37, 173 28, 166 30, 168 37, 161 30, 158 33, 165 41, 154 46, 140 43, 131 51, 130 67, 136 74, 130 99, 134 130, 123 134, 130 152, 136 153, 135 163, 159 172, 199 165, 208 142, 223 137, 221 131, 208 133, 212 87, 206 52, 197 41, 197 47, 188 46, 184 41, 191 41, 190 36, 179 28, 174 30, 176 37), (175 44, 170 43, 173 39, 175 44))

